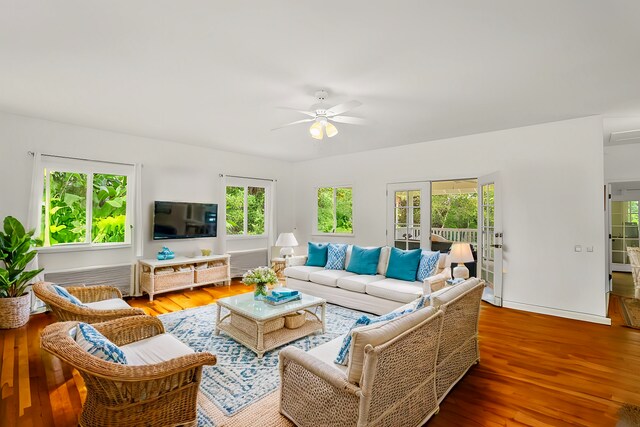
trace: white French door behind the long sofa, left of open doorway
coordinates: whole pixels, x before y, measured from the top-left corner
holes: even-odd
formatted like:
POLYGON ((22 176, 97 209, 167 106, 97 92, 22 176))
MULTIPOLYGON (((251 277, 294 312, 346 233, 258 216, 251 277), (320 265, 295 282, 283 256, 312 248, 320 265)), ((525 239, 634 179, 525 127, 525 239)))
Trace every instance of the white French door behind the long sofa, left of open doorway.
POLYGON ((398 249, 431 248, 431 183, 387 184, 387 244, 398 249))

